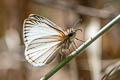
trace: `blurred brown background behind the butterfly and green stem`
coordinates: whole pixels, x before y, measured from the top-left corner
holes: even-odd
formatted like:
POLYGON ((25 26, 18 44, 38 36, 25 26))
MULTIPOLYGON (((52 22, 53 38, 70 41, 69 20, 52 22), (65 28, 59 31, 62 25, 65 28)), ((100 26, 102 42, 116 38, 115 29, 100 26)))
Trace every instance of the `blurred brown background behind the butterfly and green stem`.
MULTIPOLYGON (((44 16, 64 29, 80 19, 77 27, 82 32, 77 38, 86 41, 119 12, 120 0, 1 0, 0 80, 39 80, 60 62, 57 56, 44 67, 33 67, 25 60, 22 29, 29 14, 44 16)), ((77 46, 83 43, 75 42, 77 46)), ((49 80, 120 80, 119 58, 120 23, 49 80)))

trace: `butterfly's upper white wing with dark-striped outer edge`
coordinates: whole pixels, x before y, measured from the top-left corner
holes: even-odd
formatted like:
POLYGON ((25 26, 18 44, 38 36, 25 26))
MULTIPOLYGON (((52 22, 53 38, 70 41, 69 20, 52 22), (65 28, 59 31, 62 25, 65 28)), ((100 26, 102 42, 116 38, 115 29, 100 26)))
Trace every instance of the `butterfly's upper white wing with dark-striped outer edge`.
POLYGON ((44 17, 31 14, 24 20, 23 37, 26 46, 34 39, 51 35, 64 36, 65 34, 60 27, 44 17))

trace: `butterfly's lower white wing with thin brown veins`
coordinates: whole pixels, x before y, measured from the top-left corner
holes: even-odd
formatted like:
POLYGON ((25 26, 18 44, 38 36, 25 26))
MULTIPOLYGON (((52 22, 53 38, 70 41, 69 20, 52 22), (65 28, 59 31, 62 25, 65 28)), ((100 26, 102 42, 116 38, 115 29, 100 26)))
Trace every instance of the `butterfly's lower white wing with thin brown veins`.
POLYGON ((33 66, 43 66, 56 56, 56 51, 61 48, 61 45, 60 41, 41 42, 35 39, 25 50, 26 59, 33 66))

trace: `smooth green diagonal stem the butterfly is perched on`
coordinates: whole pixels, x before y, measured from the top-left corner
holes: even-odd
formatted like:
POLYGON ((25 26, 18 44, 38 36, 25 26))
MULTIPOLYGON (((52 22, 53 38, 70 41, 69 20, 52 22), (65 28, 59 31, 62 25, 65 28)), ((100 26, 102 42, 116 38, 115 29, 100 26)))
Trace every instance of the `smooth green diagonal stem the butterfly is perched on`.
POLYGON ((67 64, 70 60, 72 60, 75 56, 77 56, 81 51, 83 51, 86 47, 88 47, 93 41, 95 41, 98 37, 100 37, 104 32, 109 30, 114 24, 120 21, 120 15, 115 17, 111 22, 105 25, 100 31, 98 31, 94 36, 89 38, 85 43, 83 43, 79 48, 73 51, 70 55, 67 56, 60 64, 58 64, 55 68, 53 68, 49 73, 43 76, 40 80, 47 80, 53 74, 55 74, 59 69, 61 69, 65 64, 67 64))

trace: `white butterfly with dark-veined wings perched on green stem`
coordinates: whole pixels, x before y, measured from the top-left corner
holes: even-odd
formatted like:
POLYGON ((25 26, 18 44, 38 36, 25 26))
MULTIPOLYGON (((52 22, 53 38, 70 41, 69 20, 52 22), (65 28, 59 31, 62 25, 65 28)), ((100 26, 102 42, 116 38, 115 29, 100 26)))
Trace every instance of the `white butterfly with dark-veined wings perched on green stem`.
POLYGON ((68 49, 76 36, 69 28, 64 31, 52 21, 37 14, 30 14, 23 23, 25 58, 33 66, 50 63, 60 49, 68 49))

